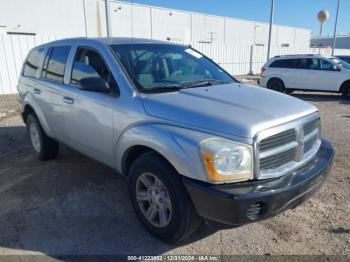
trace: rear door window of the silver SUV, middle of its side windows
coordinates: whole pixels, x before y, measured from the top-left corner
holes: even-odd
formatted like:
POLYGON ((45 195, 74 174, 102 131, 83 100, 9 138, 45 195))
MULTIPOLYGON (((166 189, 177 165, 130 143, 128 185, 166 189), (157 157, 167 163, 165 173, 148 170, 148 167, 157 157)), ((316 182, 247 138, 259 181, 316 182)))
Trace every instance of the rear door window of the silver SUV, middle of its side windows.
POLYGON ((49 80, 63 83, 64 69, 66 67, 69 51, 69 46, 50 48, 44 61, 44 68, 41 76, 49 80))

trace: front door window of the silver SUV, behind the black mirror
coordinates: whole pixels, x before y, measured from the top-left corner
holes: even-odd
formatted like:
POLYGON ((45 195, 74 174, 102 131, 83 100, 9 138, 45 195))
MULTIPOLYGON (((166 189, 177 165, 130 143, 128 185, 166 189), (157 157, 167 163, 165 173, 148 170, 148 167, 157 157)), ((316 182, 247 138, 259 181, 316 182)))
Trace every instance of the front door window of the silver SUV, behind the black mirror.
POLYGON ((112 88, 116 88, 116 81, 99 53, 89 48, 79 48, 73 62, 71 84, 77 85, 80 79, 100 77, 112 88))

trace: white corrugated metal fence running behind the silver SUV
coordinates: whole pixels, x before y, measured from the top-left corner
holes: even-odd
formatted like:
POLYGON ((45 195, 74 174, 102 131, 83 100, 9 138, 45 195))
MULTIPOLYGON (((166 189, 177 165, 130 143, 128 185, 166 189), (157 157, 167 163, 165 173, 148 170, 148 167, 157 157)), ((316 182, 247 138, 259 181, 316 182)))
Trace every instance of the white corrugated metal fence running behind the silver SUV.
MULTIPOLYGON (((63 37, 0 33, 0 95, 17 92, 17 81, 22 64, 31 48, 61 38, 63 37)), ((232 75, 258 74, 266 61, 266 46, 233 43, 181 43, 191 44, 195 49, 213 59, 232 75)), ((272 56, 298 53, 317 54, 319 48, 281 47, 275 45, 272 46, 271 51, 272 56)), ((331 49, 321 49, 321 52, 329 55, 331 49)), ((350 55, 350 50, 337 49, 336 54, 350 55)))

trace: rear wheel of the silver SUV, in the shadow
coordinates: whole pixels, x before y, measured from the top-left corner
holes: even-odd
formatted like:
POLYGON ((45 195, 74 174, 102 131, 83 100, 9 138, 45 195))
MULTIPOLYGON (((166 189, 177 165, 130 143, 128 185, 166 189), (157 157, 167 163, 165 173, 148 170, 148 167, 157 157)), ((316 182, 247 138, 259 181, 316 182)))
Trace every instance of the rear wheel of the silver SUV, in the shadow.
POLYGON ((59 143, 46 135, 38 119, 33 114, 27 117, 26 125, 27 134, 36 157, 40 160, 55 158, 59 151, 59 143))

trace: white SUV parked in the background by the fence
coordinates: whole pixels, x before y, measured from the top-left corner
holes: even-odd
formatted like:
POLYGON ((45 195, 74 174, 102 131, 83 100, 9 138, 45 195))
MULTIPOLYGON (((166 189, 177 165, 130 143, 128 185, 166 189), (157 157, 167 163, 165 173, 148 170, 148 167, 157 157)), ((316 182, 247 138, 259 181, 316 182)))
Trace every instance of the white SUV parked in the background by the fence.
POLYGON ((342 93, 350 97, 350 64, 322 55, 276 56, 261 69, 259 85, 279 92, 342 93))

